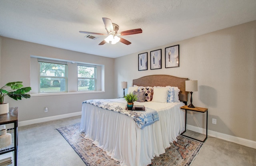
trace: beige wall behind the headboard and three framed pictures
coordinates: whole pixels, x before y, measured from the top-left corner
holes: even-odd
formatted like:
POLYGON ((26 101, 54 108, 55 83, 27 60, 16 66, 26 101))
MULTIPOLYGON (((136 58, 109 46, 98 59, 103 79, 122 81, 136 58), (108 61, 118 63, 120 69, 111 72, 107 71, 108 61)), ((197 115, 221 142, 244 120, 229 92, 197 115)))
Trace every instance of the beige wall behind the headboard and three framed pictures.
MULTIPOLYGON (((208 129, 256 141, 256 21, 138 53, 115 59, 116 97, 123 93, 121 81, 131 86, 132 79, 145 75, 198 80, 193 104, 208 108, 208 129), (176 44, 180 67, 165 69, 165 47, 176 44), (155 49, 162 49, 162 69, 150 70, 150 51, 155 49), (148 52, 148 70, 138 71, 138 53, 144 52, 148 52), (217 124, 212 124, 212 118, 217 124)), ((189 124, 202 122, 197 114, 193 118, 196 123, 190 120, 189 124)))

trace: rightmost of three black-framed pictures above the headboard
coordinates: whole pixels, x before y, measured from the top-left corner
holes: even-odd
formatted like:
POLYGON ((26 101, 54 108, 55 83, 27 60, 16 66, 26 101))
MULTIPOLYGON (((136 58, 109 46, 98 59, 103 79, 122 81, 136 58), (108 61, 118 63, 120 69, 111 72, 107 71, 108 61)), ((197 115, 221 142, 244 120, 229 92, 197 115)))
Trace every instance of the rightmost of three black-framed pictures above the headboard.
POLYGON ((165 48, 165 68, 180 66, 180 45, 165 48))

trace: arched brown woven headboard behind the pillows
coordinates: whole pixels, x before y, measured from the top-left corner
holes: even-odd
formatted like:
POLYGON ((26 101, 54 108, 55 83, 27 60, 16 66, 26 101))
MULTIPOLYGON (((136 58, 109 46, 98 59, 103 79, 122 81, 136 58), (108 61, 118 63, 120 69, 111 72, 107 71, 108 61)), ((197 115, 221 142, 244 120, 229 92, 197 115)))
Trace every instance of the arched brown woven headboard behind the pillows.
POLYGON ((185 91, 185 81, 188 78, 180 78, 172 75, 147 75, 138 79, 132 80, 132 85, 143 86, 143 87, 154 87, 154 86, 172 86, 180 89, 179 100, 188 101, 188 93, 185 91))

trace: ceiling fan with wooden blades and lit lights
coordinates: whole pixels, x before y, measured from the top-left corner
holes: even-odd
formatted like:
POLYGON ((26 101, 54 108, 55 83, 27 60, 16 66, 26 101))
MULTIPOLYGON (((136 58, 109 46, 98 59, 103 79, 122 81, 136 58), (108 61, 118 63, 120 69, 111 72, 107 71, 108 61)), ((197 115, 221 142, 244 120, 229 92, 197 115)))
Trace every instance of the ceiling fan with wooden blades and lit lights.
POLYGON ((84 31, 79 31, 80 33, 83 34, 94 34, 94 35, 105 35, 108 36, 106 39, 104 39, 102 42, 99 43, 99 45, 103 45, 105 43, 109 43, 111 41, 112 44, 117 43, 118 41, 129 45, 131 44, 130 41, 125 40, 124 38, 120 38, 119 36, 125 36, 125 35, 133 35, 133 34, 140 34, 142 33, 142 29, 134 29, 134 30, 127 30, 123 32, 118 32, 119 26, 117 24, 112 23, 112 21, 109 18, 102 18, 104 24, 105 24, 105 29, 107 31, 107 34, 100 34, 100 33, 95 33, 95 32, 84 32, 84 31))

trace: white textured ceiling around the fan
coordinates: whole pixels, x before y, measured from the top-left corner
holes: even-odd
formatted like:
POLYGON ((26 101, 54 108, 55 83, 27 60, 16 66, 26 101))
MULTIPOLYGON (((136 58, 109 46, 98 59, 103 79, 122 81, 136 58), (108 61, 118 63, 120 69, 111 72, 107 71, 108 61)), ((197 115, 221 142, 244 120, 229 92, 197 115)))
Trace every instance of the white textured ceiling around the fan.
POLYGON ((120 57, 256 20, 256 0, 0 0, 0 36, 120 57), (78 31, 106 34, 102 17, 132 42, 98 45, 78 31))

